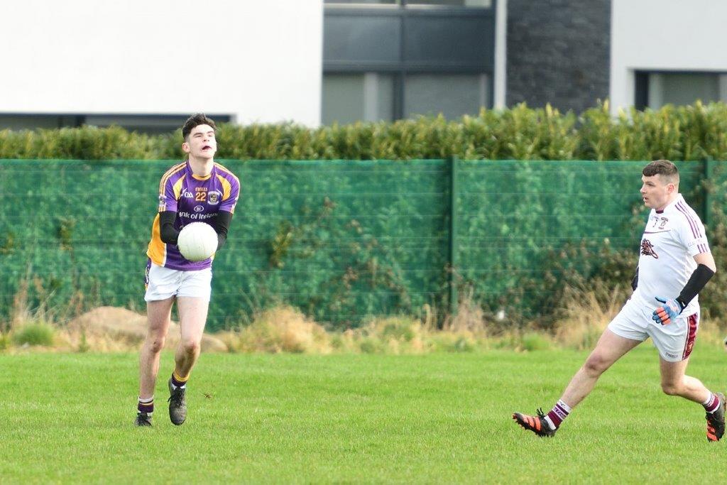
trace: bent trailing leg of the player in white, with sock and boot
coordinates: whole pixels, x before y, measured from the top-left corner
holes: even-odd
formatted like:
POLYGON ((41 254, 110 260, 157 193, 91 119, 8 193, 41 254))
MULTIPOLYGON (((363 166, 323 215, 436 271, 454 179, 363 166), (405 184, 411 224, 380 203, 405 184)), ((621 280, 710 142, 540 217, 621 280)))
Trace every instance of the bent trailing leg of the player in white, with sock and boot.
POLYGON ((662 374, 662 390, 669 396, 681 396, 702 404, 707 412, 707 440, 719 441, 725 432, 725 396, 712 393, 702 381, 686 375, 689 358, 680 362, 669 362, 663 358, 659 364, 662 374))

